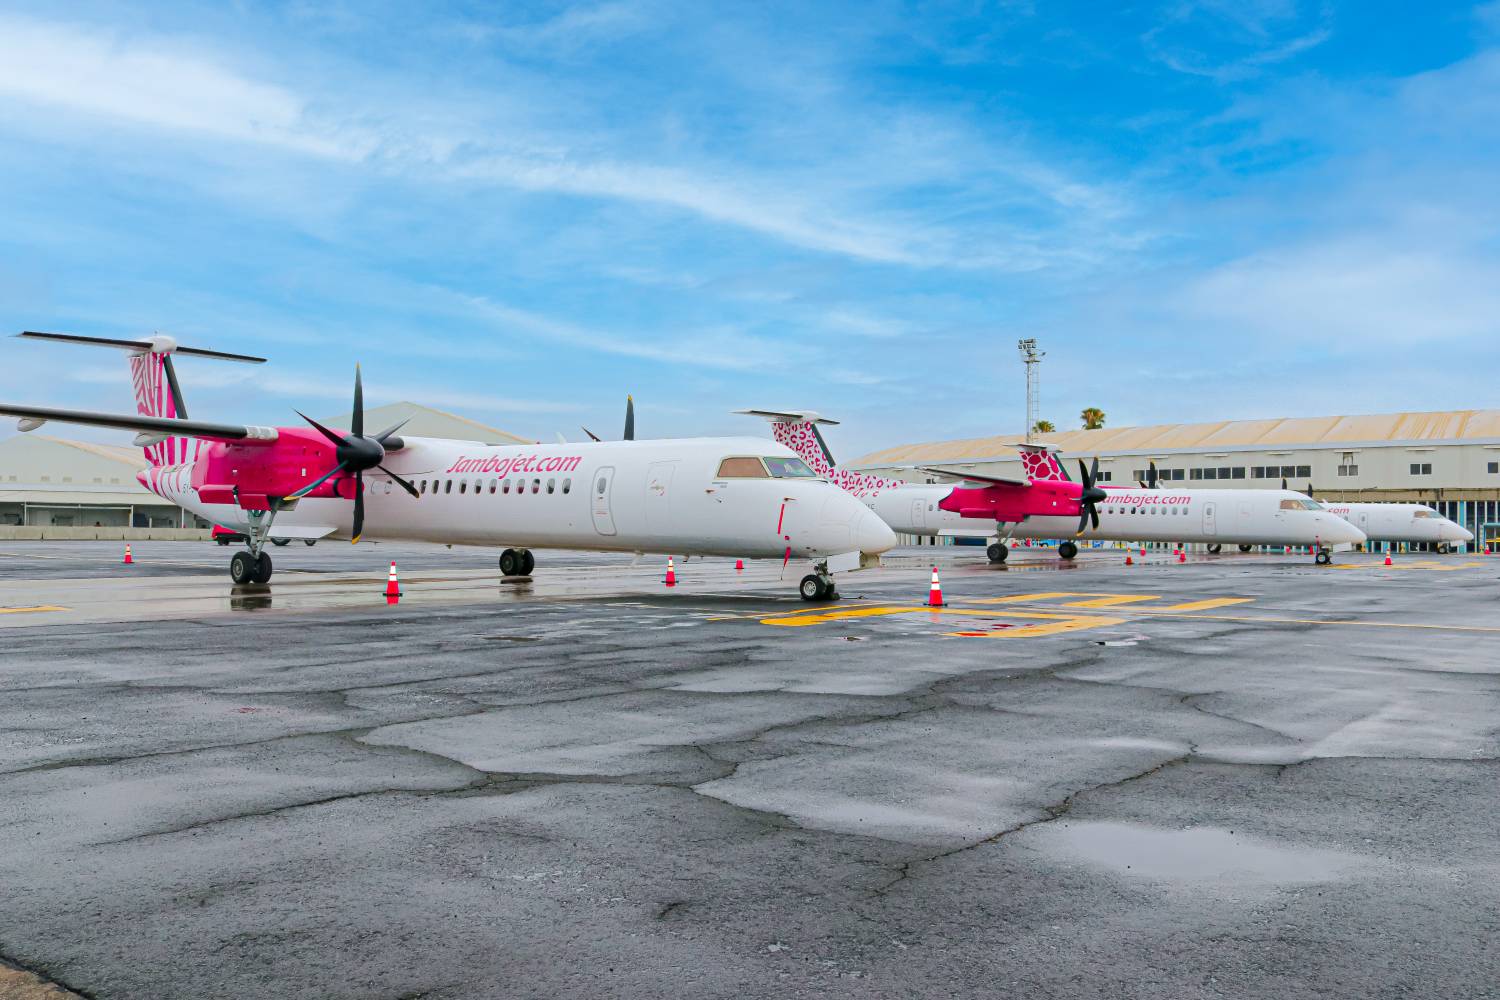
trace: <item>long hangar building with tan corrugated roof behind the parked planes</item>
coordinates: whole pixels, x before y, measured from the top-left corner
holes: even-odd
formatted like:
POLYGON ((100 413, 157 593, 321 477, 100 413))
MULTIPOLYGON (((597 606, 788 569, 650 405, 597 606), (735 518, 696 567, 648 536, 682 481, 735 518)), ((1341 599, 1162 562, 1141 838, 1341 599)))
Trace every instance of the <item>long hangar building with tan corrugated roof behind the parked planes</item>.
MULTIPOLYGON (((945 465, 1018 475, 1022 435, 885 448, 850 468, 924 480, 912 466, 945 465)), ((1318 499, 1419 502, 1500 546, 1500 409, 1230 420, 1101 427, 1040 435, 1066 459, 1100 459, 1100 478, 1120 486, 1156 463, 1164 486, 1308 484, 1318 499)), ((1074 463, 1076 465, 1076 463, 1074 463)))

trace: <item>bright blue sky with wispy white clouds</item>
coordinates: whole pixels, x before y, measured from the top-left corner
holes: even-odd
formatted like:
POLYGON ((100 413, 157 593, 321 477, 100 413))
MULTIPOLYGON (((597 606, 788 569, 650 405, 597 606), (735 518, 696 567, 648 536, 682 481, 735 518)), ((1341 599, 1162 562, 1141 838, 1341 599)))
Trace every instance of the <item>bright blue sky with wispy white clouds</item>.
POLYGON ((1500 3, 0 3, 0 328, 272 358, 194 415, 852 457, 1018 430, 1024 336, 1059 426, 1497 403, 1500 3))

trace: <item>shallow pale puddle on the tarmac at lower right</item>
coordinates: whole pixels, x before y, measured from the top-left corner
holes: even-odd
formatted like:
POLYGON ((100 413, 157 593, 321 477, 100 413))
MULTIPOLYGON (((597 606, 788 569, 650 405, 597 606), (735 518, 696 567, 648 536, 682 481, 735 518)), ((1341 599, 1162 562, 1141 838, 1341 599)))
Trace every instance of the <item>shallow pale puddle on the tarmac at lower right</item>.
POLYGON ((1220 826, 1161 829, 1136 823, 1047 823, 1048 850, 1119 874, 1164 882, 1286 885, 1332 882, 1360 864, 1358 855, 1278 844, 1220 826))

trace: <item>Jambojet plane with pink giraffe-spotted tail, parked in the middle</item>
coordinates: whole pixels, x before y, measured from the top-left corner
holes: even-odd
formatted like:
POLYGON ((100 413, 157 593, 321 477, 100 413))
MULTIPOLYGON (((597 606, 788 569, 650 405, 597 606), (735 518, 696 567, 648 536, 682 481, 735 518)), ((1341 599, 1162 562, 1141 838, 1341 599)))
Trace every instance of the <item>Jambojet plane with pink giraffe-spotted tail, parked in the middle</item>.
MULTIPOLYGON (((1292 490, 1148 490, 1098 486, 1098 459, 1078 462, 1082 483, 1071 481, 1056 454, 1042 445, 1016 445, 1026 478, 982 475, 964 469, 918 466, 916 471, 962 481, 918 484, 842 469, 818 424, 836 424, 812 411, 740 409, 771 421, 771 433, 818 475, 858 496, 902 534, 994 537, 992 562, 1005 562, 1011 538, 1100 538, 1110 541, 1203 543, 1250 550, 1257 544, 1312 546, 1318 564, 1330 553, 1364 541, 1359 528, 1292 490)), ((1078 547, 1062 541, 1058 555, 1072 559, 1078 547)))

